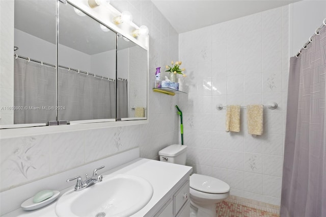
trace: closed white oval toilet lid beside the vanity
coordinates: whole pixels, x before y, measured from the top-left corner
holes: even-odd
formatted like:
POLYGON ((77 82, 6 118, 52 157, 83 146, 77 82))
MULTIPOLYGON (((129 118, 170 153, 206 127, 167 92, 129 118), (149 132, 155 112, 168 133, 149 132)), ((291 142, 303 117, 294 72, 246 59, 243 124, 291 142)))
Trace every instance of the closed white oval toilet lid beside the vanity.
POLYGON ((211 194, 223 194, 230 191, 230 186, 224 181, 199 174, 190 176, 189 185, 197 191, 211 194))

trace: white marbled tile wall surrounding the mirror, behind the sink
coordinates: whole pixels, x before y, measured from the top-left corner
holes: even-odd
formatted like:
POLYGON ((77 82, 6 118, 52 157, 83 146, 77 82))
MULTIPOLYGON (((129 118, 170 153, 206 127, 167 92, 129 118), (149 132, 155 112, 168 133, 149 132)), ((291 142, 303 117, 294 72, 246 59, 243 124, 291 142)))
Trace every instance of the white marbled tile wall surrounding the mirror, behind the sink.
MULTIPOLYGON (((141 157, 157 158, 160 149, 177 143, 179 125, 174 106, 178 97, 154 93, 152 87, 155 68, 178 58, 178 34, 150 1, 110 4, 119 11, 130 11, 137 25, 150 30, 149 124, 1 139, 0 191, 133 147, 140 147, 141 157)), ((9 44, 13 37, 1 40, 9 44)), ((1 65, 5 67, 3 62, 1 65)), ((12 67, 7 68, 6 73, 12 67)))

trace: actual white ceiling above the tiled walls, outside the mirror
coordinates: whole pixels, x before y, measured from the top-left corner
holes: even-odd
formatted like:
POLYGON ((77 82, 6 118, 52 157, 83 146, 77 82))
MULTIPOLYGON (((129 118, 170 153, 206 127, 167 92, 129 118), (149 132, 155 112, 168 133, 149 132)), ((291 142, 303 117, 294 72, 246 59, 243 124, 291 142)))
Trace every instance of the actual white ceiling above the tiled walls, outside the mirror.
POLYGON ((301 0, 152 0, 178 33, 236 19, 301 0))

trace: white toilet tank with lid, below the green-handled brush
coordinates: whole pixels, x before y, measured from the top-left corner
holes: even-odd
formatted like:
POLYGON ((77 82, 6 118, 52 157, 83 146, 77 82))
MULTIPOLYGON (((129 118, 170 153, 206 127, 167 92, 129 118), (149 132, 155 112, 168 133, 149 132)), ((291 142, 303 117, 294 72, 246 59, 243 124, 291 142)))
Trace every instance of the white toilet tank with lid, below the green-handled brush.
POLYGON ((170 145, 158 152, 159 160, 172 164, 185 165, 187 158, 186 145, 170 145))

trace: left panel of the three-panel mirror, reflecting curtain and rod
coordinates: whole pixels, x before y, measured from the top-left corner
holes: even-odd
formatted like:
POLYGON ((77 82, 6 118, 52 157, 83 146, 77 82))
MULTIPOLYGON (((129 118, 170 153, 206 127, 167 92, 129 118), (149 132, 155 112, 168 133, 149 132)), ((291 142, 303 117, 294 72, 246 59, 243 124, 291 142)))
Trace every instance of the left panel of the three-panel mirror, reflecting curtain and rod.
POLYGON ((15 110, 6 124, 45 124, 57 118, 56 0, 15 0, 14 5, 15 110))

